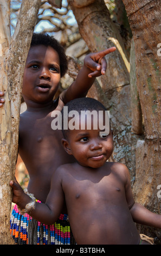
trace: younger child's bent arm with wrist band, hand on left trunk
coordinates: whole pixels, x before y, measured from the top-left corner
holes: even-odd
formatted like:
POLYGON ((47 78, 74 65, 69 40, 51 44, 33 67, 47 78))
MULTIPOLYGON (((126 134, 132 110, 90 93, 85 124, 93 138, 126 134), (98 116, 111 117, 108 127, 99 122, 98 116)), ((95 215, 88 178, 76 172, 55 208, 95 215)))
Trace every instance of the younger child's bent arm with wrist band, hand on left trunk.
MULTIPOLYGON (((16 203, 23 212, 27 204, 32 202, 32 199, 25 194, 22 187, 17 181, 10 181, 10 186, 13 190, 12 202, 16 203)), ((29 205, 28 214, 44 224, 50 225, 57 221, 61 214, 61 210, 65 203, 64 194, 61 188, 60 179, 53 176, 51 179, 51 188, 48 194, 46 203, 34 203, 29 205)))

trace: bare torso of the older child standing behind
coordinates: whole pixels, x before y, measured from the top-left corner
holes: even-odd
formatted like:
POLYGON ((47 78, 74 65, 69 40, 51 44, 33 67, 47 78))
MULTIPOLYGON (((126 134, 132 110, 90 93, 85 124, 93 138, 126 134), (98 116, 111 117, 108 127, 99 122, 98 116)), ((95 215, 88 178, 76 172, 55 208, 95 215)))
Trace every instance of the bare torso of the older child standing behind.
POLYGON ((53 170, 74 161, 62 147, 61 130, 51 129, 52 110, 25 111, 20 119, 19 153, 30 176, 28 191, 41 202, 46 201, 53 170))

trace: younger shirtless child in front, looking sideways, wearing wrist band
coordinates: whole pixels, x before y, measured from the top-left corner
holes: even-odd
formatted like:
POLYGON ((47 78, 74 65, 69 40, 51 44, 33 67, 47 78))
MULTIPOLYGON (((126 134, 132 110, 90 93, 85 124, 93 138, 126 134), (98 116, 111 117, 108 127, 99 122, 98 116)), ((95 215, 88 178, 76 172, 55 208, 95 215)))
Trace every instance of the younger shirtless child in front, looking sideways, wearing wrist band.
POLYGON ((68 130, 63 130, 62 143, 76 162, 53 169, 45 204, 36 203, 34 198, 31 201, 20 185, 11 181, 13 202, 46 224, 57 220, 66 202, 70 226, 78 244, 150 244, 141 241, 134 222, 161 228, 161 216, 134 202, 126 166, 107 162, 113 151, 113 139, 111 129, 108 133, 105 107, 90 98, 75 99, 66 106, 68 130), (75 114, 74 122, 69 118, 70 111, 79 113, 75 114), (90 111, 86 120, 82 118, 82 111, 90 111), (97 119, 92 118, 93 111, 98 114, 97 119), (104 127, 100 127, 101 112, 104 113, 104 127), (87 123, 91 123, 91 127, 88 128, 87 123), (70 129, 72 124, 79 129, 70 129))

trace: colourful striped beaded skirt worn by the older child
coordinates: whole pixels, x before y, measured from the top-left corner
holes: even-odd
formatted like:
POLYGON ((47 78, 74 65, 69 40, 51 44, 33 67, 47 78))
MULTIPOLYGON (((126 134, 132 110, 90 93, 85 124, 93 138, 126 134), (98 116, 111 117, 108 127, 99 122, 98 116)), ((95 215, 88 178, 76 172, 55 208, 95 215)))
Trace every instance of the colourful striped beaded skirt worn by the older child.
POLYGON ((45 225, 28 214, 21 215, 17 205, 12 210, 10 233, 18 244, 70 245, 70 238, 73 239, 67 214, 61 214, 53 225, 45 225))

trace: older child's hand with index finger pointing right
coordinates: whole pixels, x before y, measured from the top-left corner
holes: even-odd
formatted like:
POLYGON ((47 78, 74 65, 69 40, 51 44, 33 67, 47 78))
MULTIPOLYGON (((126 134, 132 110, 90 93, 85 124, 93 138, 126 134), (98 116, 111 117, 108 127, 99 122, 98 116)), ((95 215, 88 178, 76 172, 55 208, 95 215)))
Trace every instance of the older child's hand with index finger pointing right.
POLYGON ((114 52, 116 47, 111 47, 106 50, 96 52, 96 53, 89 53, 84 60, 84 64, 87 68, 91 69, 91 72, 88 77, 97 77, 100 75, 105 75, 105 71, 107 68, 107 62, 105 56, 108 53, 114 52))

